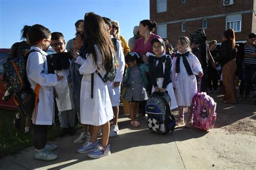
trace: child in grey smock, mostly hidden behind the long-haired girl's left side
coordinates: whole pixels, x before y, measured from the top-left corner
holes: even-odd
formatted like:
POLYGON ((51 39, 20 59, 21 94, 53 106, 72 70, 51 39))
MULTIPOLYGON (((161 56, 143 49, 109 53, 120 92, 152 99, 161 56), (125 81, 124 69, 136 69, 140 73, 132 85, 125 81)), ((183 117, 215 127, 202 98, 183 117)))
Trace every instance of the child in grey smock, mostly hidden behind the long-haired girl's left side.
MULTIPOLYGON (((79 68, 81 65, 79 63, 76 63, 76 59, 78 56, 81 57, 80 54, 80 49, 84 46, 84 33, 83 32, 77 32, 76 33, 76 38, 73 40, 73 51, 71 52, 73 59, 71 60, 70 64, 70 82, 72 83, 73 86, 73 101, 75 104, 75 108, 77 111, 77 118, 78 121, 80 121, 80 89, 81 89, 81 82, 83 75, 79 73, 79 68)), ((83 131, 80 134, 80 136, 74 140, 74 144, 82 144, 82 143, 88 143, 91 140, 91 135, 88 132, 89 125, 83 124, 83 131)))

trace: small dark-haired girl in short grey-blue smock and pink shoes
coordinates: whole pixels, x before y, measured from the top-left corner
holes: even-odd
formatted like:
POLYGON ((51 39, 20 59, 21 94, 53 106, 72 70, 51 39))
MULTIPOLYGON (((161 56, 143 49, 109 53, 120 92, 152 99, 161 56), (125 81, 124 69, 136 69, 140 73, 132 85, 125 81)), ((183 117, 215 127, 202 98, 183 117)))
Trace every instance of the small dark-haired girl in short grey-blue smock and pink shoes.
POLYGON ((146 73, 149 68, 143 64, 142 58, 138 53, 128 53, 125 56, 125 62, 128 65, 126 70, 126 79, 124 86, 126 92, 125 100, 131 102, 130 115, 131 125, 135 128, 140 126, 140 123, 135 119, 135 111, 139 108, 139 102, 147 100, 147 79, 146 73))

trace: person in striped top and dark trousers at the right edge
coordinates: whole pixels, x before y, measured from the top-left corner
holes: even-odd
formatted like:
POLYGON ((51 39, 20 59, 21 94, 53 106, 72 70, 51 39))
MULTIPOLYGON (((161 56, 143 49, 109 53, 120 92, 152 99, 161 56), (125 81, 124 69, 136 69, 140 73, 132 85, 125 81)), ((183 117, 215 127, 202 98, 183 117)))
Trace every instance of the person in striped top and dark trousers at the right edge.
POLYGON ((256 72, 256 35, 250 33, 247 41, 240 45, 240 58, 244 66, 245 79, 240 83, 239 100, 251 101, 250 91, 252 87, 253 74, 256 72), (244 98, 245 91, 245 98, 244 98))

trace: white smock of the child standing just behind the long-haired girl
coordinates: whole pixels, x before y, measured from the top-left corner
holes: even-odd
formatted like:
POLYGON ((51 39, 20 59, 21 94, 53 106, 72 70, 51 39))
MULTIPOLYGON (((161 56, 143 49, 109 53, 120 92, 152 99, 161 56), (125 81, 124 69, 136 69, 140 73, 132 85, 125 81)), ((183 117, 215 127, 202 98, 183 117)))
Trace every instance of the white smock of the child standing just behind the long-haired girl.
POLYGON ((124 67, 125 67, 124 52, 122 49, 121 42, 119 40, 117 40, 116 45, 117 45, 117 59, 119 62, 119 67, 117 68, 117 74, 116 74, 116 77, 114 78, 114 81, 107 82, 107 88, 109 90, 109 96, 110 96, 112 107, 117 107, 117 106, 119 106, 119 103, 120 103, 120 88, 121 88, 121 86, 114 88, 114 82, 122 82, 123 81, 124 67))

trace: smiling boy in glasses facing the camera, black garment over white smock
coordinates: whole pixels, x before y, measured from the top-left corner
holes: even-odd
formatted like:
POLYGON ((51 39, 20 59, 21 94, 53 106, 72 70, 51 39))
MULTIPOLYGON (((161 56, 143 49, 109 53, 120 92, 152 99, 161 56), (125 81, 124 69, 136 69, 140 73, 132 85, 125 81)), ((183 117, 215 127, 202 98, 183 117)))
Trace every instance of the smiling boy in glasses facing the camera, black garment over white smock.
POLYGON ((60 123, 60 136, 64 136, 65 134, 69 133, 70 135, 75 134, 75 117, 76 117, 76 110, 72 100, 72 93, 73 90, 68 83, 68 76, 70 75, 69 66, 70 66, 70 59, 67 58, 66 49, 65 49, 65 39, 62 33, 60 32, 53 32, 51 34, 51 47, 54 49, 56 53, 63 53, 61 55, 60 63, 56 63, 58 67, 55 69, 55 74, 59 74, 63 76, 63 80, 59 81, 55 86, 56 91, 56 103, 59 111, 59 123, 60 123), (65 60, 65 61, 64 61, 65 60), (66 61, 68 60, 68 61, 66 61), (63 64, 63 63, 68 63, 63 64), (58 68, 58 70, 57 70, 58 68))

